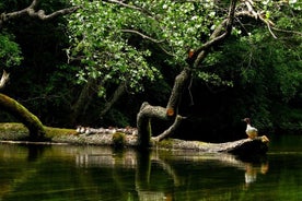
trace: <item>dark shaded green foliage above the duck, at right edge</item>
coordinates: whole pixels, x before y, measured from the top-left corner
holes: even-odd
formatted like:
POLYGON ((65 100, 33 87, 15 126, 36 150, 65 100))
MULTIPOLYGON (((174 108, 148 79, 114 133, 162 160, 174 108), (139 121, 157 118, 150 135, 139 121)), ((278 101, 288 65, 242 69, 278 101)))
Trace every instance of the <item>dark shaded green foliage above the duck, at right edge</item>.
POLYGON ((241 37, 240 43, 229 42, 214 69, 221 76, 233 78, 236 107, 229 113, 253 117, 259 129, 301 128, 301 106, 292 104, 302 92, 300 44, 294 35, 274 39, 263 28, 241 37))

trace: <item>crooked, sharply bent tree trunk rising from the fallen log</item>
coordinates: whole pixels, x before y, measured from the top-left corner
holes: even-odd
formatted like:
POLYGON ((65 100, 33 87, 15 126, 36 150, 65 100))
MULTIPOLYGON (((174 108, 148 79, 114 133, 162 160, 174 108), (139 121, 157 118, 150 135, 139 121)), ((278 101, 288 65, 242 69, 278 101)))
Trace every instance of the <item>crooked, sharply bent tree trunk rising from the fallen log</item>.
POLYGON ((209 40, 199 47, 186 61, 188 67, 176 76, 174 87, 172 90, 166 108, 159 106, 151 106, 148 103, 143 103, 140 111, 137 116, 138 127, 138 145, 146 147, 150 145, 151 132, 151 119, 158 118, 163 120, 171 120, 174 118, 174 123, 165 130, 162 134, 154 138, 154 141, 163 140, 170 137, 173 131, 178 127, 183 117, 178 115, 178 105, 183 96, 185 87, 188 85, 188 81, 191 75, 191 69, 198 69, 199 64, 205 60, 209 54, 211 47, 222 43, 232 31, 234 22, 234 13, 237 0, 231 0, 228 16, 217 26, 211 34, 209 40), (165 111, 165 113, 164 113, 165 111))

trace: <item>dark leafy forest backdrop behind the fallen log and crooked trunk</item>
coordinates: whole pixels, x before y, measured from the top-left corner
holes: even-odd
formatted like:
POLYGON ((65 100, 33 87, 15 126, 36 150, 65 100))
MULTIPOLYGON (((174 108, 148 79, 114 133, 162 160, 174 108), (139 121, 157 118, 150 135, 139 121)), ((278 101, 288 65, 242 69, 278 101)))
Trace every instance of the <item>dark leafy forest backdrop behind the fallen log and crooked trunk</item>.
MULTIPOLYGON (((1 1, 0 13, 31 2, 1 1)), ((123 1, 132 8, 116 2, 121 1, 39 1, 46 13, 81 8, 49 21, 25 15, 1 23, 0 70, 10 72, 2 93, 46 126, 136 127, 143 102, 166 104, 188 49, 209 37, 229 7, 229 1, 123 1)), ((265 15, 276 28, 235 22, 231 37, 214 47, 184 92, 178 113, 186 119, 175 138, 245 138, 244 117, 265 134, 302 134, 302 5, 257 3, 270 10, 265 15)), ((1 110, 0 121, 16 119, 1 110)), ((153 127, 154 133, 164 129, 153 127)))

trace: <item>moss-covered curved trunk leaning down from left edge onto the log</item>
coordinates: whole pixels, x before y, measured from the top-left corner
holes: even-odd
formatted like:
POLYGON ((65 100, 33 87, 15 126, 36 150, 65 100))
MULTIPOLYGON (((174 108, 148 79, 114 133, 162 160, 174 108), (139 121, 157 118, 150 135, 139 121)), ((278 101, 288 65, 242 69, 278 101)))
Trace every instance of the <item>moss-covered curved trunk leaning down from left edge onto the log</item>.
POLYGON ((40 120, 15 99, 0 94, 0 108, 18 118, 30 131, 30 140, 44 140, 45 129, 40 120))

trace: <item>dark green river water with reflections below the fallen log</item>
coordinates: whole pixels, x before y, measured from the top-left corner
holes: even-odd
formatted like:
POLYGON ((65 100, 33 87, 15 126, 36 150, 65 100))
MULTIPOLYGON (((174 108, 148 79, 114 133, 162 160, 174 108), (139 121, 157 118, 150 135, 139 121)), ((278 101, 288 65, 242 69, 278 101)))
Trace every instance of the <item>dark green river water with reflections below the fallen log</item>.
POLYGON ((302 200, 302 139, 264 157, 0 144, 0 201, 302 200))

